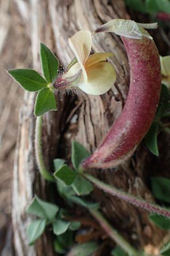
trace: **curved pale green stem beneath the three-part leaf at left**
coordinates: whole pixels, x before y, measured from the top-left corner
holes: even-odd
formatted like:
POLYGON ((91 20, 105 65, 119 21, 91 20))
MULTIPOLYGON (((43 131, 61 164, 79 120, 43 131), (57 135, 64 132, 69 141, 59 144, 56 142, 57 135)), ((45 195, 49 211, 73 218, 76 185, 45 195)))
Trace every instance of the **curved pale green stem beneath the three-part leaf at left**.
POLYGON ((42 137, 42 115, 36 118, 36 129, 35 129, 35 152, 36 152, 36 160, 37 165, 39 167, 40 174, 44 177, 45 180, 55 182, 54 177, 46 170, 44 159, 42 156, 42 145, 41 145, 41 137, 42 137))

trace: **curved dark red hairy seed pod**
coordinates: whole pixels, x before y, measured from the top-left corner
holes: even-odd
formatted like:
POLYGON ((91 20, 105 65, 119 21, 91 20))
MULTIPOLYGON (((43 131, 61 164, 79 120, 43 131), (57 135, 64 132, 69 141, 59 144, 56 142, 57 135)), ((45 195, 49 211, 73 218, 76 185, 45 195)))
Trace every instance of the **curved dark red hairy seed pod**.
MULTIPOLYGON (((140 31, 147 33, 142 27, 140 31)), ((154 40, 149 36, 142 36, 142 39, 121 36, 121 39, 130 65, 129 94, 122 113, 94 154, 84 160, 83 168, 116 167, 130 158, 145 137, 156 113, 161 72, 154 40)))

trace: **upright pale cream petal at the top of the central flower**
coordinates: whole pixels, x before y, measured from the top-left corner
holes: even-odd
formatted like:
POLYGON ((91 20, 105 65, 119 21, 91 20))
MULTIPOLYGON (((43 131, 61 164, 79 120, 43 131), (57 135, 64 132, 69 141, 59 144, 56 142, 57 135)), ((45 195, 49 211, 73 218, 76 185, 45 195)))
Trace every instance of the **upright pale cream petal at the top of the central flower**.
POLYGON ((87 81, 87 74, 83 64, 90 55, 91 33, 87 30, 76 32, 75 35, 69 38, 69 46, 74 52, 74 55, 82 68, 84 80, 87 81))

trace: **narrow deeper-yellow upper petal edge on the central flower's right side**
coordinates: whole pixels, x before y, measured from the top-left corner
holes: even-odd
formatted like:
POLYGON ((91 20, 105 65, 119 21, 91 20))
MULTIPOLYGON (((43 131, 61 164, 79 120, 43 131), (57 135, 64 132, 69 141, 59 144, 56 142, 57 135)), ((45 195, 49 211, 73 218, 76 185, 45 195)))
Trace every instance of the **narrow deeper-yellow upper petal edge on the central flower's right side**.
POLYGON ((85 63, 85 68, 90 67, 91 65, 94 65, 95 63, 99 61, 103 61, 107 59, 108 57, 112 57, 113 53, 112 52, 97 52, 92 54, 86 61, 85 63))

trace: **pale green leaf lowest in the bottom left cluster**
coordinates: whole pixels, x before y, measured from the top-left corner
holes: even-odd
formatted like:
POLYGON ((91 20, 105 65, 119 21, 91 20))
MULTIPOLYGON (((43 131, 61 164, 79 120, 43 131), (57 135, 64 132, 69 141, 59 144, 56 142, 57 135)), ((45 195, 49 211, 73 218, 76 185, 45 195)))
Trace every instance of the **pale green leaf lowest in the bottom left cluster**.
POLYGON ((29 240, 29 245, 32 245, 37 238, 41 236, 41 234, 45 230, 46 220, 34 220, 32 221, 27 228, 27 236, 29 240))

